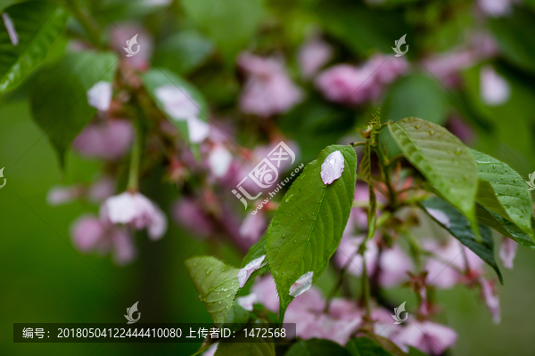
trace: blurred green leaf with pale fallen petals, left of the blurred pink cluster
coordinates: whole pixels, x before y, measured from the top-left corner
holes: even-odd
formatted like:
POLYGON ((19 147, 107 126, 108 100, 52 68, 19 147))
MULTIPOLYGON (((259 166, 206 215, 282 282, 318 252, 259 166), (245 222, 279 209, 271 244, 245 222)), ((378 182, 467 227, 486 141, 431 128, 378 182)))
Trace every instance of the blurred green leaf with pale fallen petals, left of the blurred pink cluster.
POLYGON ((169 118, 169 121, 175 125, 178 131, 189 141, 189 131, 188 123, 186 122, 186 117, 172 117, 165 108, 164 102, 158 98, 157 90, 163 86, 169 86, 171 88, 176 88, 177 93, 184 93, 189 100, 193 101, 193 105, 199 108, 200 112, 197 118, 202 122, 207 122, 208 113, 210 112, 208 103, 204 100, 202 93, 192 85, 187 82, 185 79, 178 77, 175 73, 171 72, 168 69, 159 69, 153 68, 144 73, 142 76, 143 83, 152 96, 154 102, 161 112, 169 118))

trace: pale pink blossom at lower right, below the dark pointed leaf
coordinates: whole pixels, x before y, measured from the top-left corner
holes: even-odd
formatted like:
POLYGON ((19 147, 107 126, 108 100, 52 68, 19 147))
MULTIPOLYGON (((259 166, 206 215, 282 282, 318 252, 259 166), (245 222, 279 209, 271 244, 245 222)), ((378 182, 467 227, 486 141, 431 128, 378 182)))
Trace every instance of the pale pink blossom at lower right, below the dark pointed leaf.
POLYGON ((457 239, 449 238, 445 243, 435 240, 425 240, 424 248, 432 252, 435 257, 430 257, 425 263, 427 270, 427 283, 440 288, 453 287, 461 278, 461 272, 469 268, 478 274, 482 274, 483 261, 471 250, 463 247, 457 239), (465 254, 465 255, 463 255, 465 254), (466 266, 465 261, 468 262, 466 266))

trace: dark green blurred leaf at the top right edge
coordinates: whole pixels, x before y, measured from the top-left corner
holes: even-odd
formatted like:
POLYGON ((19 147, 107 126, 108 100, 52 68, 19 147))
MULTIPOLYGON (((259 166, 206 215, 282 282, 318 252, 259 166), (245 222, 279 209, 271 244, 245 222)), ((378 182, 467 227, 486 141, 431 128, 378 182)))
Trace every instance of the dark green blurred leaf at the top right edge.
POLYGON ((535 73, 535 14, 516 7, 511 15, 489 18, 500 53, 516 66, 535 73))

